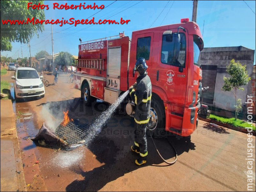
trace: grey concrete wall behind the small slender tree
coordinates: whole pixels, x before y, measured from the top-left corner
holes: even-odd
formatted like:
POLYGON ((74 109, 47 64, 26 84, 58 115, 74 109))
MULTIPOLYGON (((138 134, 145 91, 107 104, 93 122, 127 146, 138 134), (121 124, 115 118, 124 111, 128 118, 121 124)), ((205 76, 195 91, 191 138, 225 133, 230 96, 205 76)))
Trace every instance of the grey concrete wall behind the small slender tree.
MULTIPOLYGON (((239 46, 239 47, 221 47, 221 48, 204 48, 200 61, 201 65, 217 65, 217 73, 215 80, 215 91, 213 104, 209 106, 234 111, 235 110, 235 96, 231 92, 224 92, 221 90, 223 86, 223 76, 229 77, 226 72, 226 67, 230 64, 230 61, 235 59, 235 62, 239 61, 242 65, 246 65, 246 70, 249 76, 252 76, 252 69, 254 63, 254 50, 239 46)), ((204 73, 204 71, 203 71, 204 73)), ((203 84, 202 80, 202 84, 203 84)), ((237 91, 237 99, 242 99, 242 106, 245 108, 245 101, 247 98, 250 85, 243 86, 244 91, 237 91)), ((211 86, 211 85, 202 85, 211 86)))

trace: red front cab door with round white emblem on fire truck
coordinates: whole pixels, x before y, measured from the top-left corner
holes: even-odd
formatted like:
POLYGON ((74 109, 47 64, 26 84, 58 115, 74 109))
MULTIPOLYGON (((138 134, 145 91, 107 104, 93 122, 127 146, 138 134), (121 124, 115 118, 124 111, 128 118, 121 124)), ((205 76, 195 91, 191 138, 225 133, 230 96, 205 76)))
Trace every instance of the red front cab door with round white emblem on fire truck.
MULTIPOLYGON (((153 54, 157 57, 151 67, 151 82, 153 85, 160 87, 167 95, 168 100, 173 106, 178 107, 176 110, 182 113, 182 107, 185 103, 186 84, 187 84, 187 55, 188 45, 187 33, 180 30, 180 51, 179 57, 174 60, 174 44, 172 41, 173 33, 176 29, 166 29, 159 31, 156 35, 158 48, 153 48, 153 54)), ((155 44, 154 44, 155 45, 155 44)), ((153 90, 154 91, 154 90, 153 90)))

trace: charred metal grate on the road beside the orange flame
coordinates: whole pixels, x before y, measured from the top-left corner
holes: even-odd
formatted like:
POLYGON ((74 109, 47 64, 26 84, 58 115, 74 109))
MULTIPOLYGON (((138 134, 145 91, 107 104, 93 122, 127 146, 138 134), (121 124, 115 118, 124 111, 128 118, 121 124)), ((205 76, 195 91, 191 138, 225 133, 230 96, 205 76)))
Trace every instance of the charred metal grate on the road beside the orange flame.
POLYGON ((69 122, 66 126, 61 124, 57 127, 55 134, 67 142, 69 145, 77 144, 84 140, 88 124, 82 124, 78 120, 69 122))

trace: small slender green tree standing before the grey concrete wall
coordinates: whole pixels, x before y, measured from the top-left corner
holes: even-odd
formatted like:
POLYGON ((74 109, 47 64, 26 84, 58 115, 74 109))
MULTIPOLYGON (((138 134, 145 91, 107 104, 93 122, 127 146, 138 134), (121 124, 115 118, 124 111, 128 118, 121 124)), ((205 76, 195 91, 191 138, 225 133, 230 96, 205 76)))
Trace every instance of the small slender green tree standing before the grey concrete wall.
MULTIPOLYGON (((237 105, 237 89, 244 91, 244 88, 241 88, 240 86, 246 85, 251 78, 248 76, 248 73, 246 71, 246 66, 239 63, 239 61, 236 63, 234 59, 230 61, 230 64, 227 66, 227 72, 230 75, 230 77, 223 77, 224 84, 222 87, 223 91, 230 91, 235 95, 236 99, 236 120, 237 120, 237 114, 238 111, 240 111, 239 105, 237 105)), ((239 103, 239 99, 238 99, 239 103)))

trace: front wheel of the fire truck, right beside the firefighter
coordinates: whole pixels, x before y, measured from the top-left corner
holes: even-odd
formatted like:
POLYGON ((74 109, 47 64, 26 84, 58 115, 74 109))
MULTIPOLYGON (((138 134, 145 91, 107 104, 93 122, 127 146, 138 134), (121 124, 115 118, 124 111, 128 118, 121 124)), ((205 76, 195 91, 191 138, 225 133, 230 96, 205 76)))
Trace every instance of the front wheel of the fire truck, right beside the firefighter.
MULTIPOLYGON (((150 119, 147 123, 147 128, 151 131, 151 135, 154 138, 164 137, 165 134, 165 110, 163 103, 152 97, 150 106, 150 119)), ((150 136, 149 130, 147 135, 150 136)))

